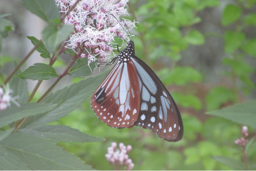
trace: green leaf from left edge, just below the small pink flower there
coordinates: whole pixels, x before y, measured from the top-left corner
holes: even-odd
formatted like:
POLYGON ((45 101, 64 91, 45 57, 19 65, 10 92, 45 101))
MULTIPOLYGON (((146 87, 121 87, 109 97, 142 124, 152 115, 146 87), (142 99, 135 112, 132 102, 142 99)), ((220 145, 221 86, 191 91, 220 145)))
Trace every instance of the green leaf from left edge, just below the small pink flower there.
POLYGON ((47 103, 25 103, 21 104, 20 107, 12 105, 11 107, 0 111, 0 127, 28 116, 48 112, 55 107, 55 104, 47 103))

